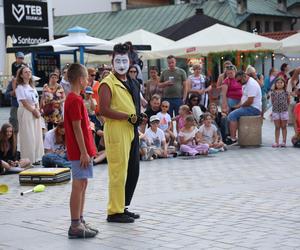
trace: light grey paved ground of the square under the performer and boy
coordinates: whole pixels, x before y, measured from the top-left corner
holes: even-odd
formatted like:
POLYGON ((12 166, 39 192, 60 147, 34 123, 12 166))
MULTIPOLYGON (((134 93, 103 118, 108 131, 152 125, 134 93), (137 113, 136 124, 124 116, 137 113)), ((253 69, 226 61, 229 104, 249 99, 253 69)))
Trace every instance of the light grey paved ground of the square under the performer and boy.
POLYGON ((67 239, 70 183, 21 197, 18 176, 1 176, 0 249, 300 249, 299 149, 272 142, 265 121, 260 148, 142 162, 129 225, 105 221, 107 165, 95 166, 85 217, 100 233, 88 240, 67 239))

